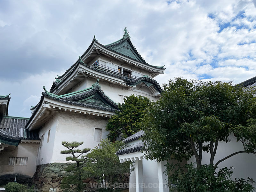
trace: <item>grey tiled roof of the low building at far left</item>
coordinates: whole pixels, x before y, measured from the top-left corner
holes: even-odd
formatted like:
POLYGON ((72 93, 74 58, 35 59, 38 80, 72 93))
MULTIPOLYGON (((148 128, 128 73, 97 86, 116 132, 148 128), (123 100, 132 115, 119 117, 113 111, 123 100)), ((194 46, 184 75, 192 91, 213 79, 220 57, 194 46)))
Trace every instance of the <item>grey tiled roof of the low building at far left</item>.
POLYGON ((39 140, 37 131, 28 131, 25 125, 28 118, 3 116, 0 119, 0 142, 18 145, 21 139, 39 140))

